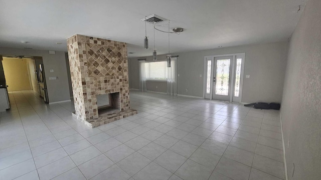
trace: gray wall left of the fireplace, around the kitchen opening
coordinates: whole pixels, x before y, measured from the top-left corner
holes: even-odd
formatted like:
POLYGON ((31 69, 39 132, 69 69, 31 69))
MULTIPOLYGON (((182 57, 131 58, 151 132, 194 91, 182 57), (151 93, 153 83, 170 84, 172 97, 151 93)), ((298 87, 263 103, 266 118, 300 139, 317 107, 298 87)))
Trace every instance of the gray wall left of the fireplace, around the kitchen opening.
POLYGON ((65 52, 56 51, 56 54, 49 54, 48 50, 0 47, 0 54, 42 56, 46 73, 49 102, 70 100, 65 52), (54 69, 54 72, 50 72, 50 69, 54 69), (59 79, 49 80, 50 76, 58 76, 59 79))

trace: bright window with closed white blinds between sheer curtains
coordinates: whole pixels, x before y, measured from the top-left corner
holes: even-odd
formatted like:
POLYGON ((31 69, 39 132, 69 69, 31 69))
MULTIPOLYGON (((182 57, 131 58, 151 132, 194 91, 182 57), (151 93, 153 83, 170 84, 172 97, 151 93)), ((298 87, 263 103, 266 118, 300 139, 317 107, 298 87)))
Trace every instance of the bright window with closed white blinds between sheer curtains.
POLYGON ((146 79, 164 79, 168 78, 167 61, 145 62, 146 79))

